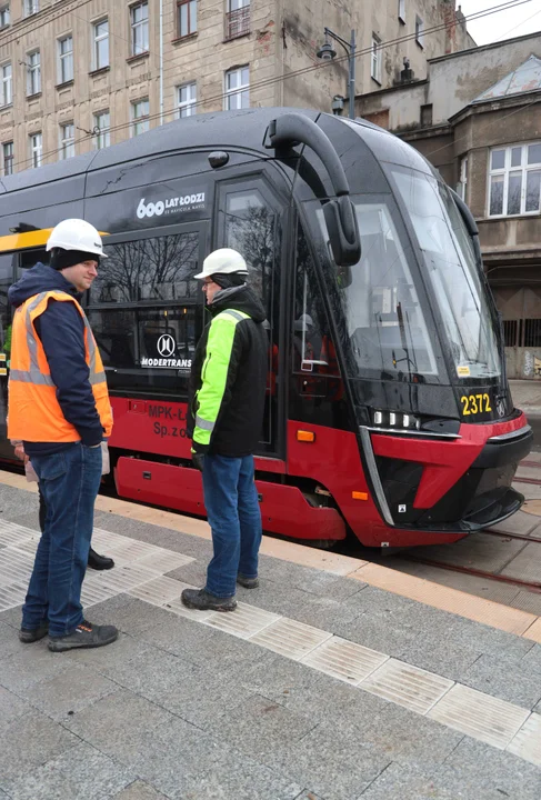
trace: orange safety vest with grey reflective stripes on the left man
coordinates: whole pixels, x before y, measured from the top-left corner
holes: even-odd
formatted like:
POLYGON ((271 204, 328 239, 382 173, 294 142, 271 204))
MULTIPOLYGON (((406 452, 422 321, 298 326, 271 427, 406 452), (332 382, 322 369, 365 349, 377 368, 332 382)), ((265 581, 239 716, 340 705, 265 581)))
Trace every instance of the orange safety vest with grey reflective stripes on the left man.
POLYGON ((13 317, 11 334, 11 369, 9 376, 8 438, 30 442, 73 442, 81 437, 68 422, 57 400, 36 319, 46 311, 49 300, 72 302, 84 322, 86 361, 96 409, 109 437, 112 412, 101 356, 84 311, 76 298, 62 291, 46 291, 26 300, 13 317))

